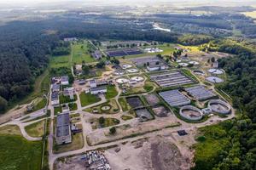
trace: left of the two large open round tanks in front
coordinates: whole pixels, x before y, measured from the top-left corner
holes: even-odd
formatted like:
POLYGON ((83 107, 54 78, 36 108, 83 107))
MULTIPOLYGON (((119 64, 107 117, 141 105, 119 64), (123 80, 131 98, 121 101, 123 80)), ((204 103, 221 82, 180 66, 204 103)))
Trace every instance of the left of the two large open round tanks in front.
POLYGON ((203 113, 193 105, 185 105, 180 108, 179 115, 190 121, 199 121, 201 120, 203 113))

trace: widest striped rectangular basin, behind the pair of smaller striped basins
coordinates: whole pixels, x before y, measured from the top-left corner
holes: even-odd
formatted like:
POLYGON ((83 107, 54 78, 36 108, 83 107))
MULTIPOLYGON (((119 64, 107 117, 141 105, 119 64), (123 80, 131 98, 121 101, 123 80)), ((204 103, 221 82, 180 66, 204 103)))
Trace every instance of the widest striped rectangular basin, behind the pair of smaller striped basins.
POLYGON ((190 84, 194 81, 183 75, 180 71, 166 71, 150 76, 150 79, 160 85, 161 88, 190 84))

